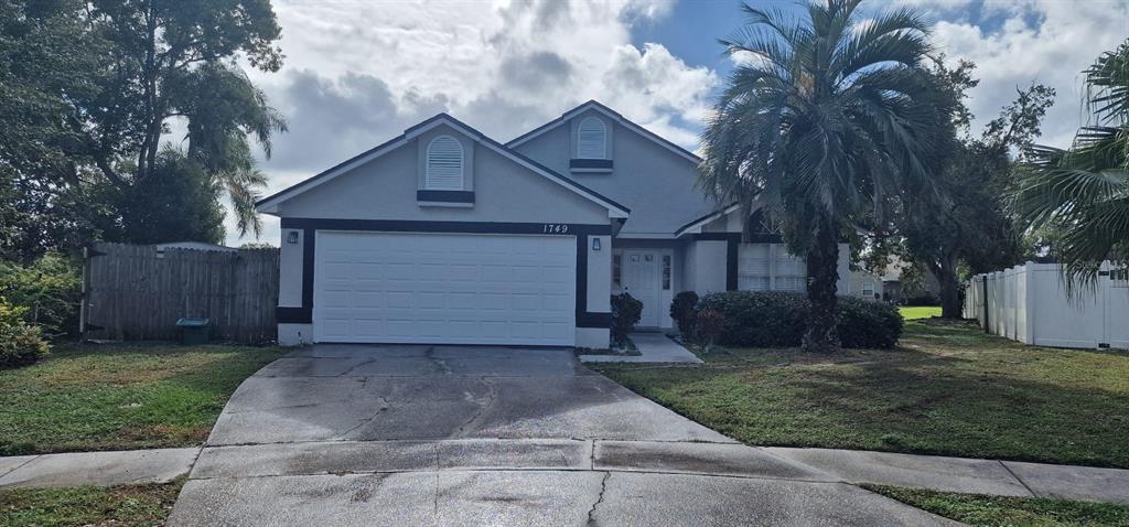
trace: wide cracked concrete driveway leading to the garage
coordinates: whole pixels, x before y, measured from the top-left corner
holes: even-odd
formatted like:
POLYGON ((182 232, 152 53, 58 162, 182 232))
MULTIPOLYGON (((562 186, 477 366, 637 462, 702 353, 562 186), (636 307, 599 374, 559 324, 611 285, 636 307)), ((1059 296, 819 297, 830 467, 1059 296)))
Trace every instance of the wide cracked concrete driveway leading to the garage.
POLYGON ((736 443, 570 350, 317 345, 220 415, 169 525, 953 525, 736 443))

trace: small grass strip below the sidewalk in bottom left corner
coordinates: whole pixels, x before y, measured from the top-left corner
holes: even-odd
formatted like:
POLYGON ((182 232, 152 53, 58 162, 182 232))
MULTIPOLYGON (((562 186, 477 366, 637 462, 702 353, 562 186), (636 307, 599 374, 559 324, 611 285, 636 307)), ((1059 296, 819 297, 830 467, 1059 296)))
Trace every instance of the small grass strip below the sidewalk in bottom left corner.
POLYGON ((182 484, 0 490, 0 527, 159 526, 182 484))

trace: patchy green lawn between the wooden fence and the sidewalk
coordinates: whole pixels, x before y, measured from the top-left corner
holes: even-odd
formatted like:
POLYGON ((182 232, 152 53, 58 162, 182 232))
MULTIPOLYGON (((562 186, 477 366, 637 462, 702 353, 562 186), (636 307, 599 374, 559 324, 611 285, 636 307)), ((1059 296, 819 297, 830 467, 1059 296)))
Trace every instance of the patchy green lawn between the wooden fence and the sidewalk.
POLYGON ((0 455, 199 445, 239 383, 281 353, 56 346, 37 364, 0 371, 0 455))

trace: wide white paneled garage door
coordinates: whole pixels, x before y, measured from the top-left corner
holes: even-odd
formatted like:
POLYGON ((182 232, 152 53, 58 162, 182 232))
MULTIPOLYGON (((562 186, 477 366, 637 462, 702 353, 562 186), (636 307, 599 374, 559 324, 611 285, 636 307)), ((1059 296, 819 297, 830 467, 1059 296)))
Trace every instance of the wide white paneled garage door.
POLYGON ((571 237, 318 231, 314 340, 572 345, 571 237))

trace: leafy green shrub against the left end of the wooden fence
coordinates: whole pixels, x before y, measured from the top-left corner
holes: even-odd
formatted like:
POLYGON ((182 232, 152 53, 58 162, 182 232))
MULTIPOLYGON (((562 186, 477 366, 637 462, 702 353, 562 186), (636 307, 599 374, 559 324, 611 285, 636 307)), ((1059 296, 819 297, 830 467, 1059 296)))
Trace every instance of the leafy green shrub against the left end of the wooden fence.
POLYGON ((0 262, 0 296, 24 307, 24 320, 49 336, 78 333, 81 296, 79 267, 58 253, 47 253, 30 265, 0 262))

